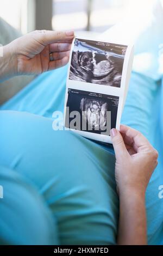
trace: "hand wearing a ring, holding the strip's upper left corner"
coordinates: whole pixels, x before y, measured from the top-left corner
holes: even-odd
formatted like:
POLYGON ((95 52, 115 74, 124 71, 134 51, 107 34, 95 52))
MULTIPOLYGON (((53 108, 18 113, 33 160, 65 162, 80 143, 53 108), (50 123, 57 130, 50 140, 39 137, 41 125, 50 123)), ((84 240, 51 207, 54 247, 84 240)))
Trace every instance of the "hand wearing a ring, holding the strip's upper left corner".
POLYGON ((68 63, 73 31, 34 31, 4 46, 0 76, 37 75, 68 63), (54 61, 50 61, 52 53, 54 61))

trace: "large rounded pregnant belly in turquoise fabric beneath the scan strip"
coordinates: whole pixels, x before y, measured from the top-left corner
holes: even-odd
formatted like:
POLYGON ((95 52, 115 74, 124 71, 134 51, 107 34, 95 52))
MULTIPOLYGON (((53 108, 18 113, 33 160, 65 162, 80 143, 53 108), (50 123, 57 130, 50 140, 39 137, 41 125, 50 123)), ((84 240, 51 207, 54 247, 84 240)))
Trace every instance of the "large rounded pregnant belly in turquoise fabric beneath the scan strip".
POLYGON ((26 176, 57 220, 62 244, 115 244, 115 157, 52 120, 0 112, 0 164, 26 176))

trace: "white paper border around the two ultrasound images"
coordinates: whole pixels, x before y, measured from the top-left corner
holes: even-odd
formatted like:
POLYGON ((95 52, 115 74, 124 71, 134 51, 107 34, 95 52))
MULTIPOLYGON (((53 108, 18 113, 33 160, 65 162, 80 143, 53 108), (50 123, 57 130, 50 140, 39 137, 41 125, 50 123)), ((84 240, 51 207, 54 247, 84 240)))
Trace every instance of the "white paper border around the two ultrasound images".
MULTIPOLYGON (((70 60, 68 63, 68 72, 67 72, 67 82, 66 82, 66 95, 65 95, 65 111, 64 111, 64 121, 66 118, 66 105, 67 105, 67 99, 68 99, 68 89, 76 89, 76 90, 83 90, 86 92, 92 92, 92 93, 100 93, 100 94, 106 94, 111 96, 118 96, 119 97, 119 103, 118 103, 118 111, 117 111, 117 120, 116 120, 116 129, 120 130, 120 124, 121 124, 121 116, 123 112, 124 103, 126 101, 127 92, 128 92, 128 85, 130 81, 130 74, 133 64, 133 58, 134 58, 134 46, 129 44, 121 44, 117 41, 111 41, 111 40, 98 40, 97 38, 89 38, 88 36, 77 36, 74 38, 72 42, 72 47, 70 51, 70 60), (122 71, 122 79, 121 79, 121 88, 117 87, 111 87, 111 86, 104 86, 99 84, 93 84, 92 83, 86 83, 86 82, 80 82, 80 81, 73 81, 70 80, 70 66, 71 66, 71 58, 72 58, 72 52, 74 48, 74 41, 77 39, 83 39, 83 40, 94 40, 94 41, 101 41, 106 42, 109 44, 118 44, 118 45, 126 45, 127 51, 126 55, 124 57, 124 64, 123 64, 123 71, 122 71)), ((65 123, 64 123, 65 124, 65 123)), ((67 129, 67 128, 66 128, 67 129)), ((71 130, 71 129, 69 129, 71 130)), ((78 130, 72 130, 73 132, 78 133, 79 135, 93 139, 95 141, 105 142, 105 143, 111 143, 110 136, 106 135, 100 135, 97 133, 91 133, 86 131, 78 131, 78 130)))

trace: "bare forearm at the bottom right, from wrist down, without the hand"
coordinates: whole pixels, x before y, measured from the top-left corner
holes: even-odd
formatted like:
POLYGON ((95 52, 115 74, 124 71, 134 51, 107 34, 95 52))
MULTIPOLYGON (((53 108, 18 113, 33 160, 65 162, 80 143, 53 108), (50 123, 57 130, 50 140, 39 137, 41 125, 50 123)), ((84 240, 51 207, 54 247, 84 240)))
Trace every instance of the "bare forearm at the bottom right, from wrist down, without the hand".
POLYGON ((120 195, 118 245, 147 245, 145 193, 127 191, 120 195))

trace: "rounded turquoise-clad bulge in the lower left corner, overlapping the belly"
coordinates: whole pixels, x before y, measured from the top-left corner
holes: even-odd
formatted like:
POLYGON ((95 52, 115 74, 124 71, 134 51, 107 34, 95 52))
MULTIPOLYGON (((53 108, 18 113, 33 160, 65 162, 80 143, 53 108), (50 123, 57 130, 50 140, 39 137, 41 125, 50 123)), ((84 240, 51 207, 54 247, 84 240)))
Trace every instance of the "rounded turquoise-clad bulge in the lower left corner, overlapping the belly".
POLYGON ((0 244, 55 245, 57 228, 51 212, 26 178, 0 166, 0 244))

